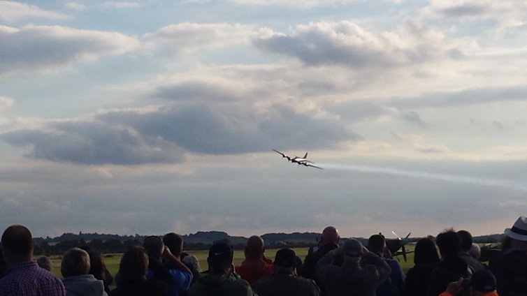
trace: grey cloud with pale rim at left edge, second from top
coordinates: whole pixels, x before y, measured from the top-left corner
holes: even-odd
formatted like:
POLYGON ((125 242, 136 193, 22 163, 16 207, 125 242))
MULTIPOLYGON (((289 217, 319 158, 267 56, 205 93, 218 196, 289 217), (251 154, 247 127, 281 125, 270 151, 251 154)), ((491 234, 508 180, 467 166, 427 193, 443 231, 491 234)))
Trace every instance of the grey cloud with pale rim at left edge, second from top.
POLYGON ((59 26, 0 27, 0 73, 46 71, 139 47, 136 38, 59 26))

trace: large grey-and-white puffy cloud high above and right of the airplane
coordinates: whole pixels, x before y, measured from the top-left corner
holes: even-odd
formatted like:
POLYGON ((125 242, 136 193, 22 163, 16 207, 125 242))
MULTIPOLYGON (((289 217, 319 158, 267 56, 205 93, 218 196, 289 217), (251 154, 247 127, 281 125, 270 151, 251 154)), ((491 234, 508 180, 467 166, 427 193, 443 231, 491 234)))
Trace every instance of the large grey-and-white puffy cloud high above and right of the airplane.
POLYGON ((400 31, 375 34, 348 21, 298 25, 292 34, 259 37, 254 44, 265 52, 302 61, 308 66, 391 68, 456 59, 463 52, 449 45, 438 31, 407 23, 400 31))

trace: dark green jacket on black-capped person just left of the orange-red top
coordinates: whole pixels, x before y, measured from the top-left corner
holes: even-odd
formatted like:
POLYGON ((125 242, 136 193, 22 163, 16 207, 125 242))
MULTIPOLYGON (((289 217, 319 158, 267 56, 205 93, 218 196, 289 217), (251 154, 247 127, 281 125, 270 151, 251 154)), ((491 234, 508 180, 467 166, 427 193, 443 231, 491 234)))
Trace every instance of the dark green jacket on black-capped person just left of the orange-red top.
POLYGON ((206 274, 189 289, 189 296, 257 296, 238 274, 206 274))

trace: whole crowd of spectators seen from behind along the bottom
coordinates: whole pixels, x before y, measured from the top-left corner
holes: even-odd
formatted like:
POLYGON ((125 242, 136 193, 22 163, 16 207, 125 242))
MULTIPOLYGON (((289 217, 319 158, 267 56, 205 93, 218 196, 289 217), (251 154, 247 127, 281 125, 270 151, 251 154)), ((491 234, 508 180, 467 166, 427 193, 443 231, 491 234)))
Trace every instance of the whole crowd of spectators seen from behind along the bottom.
POLYGON ((357 239, 341 242, 329 226, 304 262, 287 248, 267 258, 263 239, 254 235, 238 266, 233 248, 216 242, 202 271, 198 259, 183 252, 182 237, 171 232, 130 247, 112 286, 114 276, 98 251, 66 251, 59 279, 50 272, 50 258, 34 260, 29 229, 11 225, 1 237, 0 295, 527 296, 527 218, 519 217, 504 234, 502 251, 489 265, 479 262, 479 246, 466 230, 445 230, 435 242, 420 239, 405 274, 380 234, 363 246, 357 239))

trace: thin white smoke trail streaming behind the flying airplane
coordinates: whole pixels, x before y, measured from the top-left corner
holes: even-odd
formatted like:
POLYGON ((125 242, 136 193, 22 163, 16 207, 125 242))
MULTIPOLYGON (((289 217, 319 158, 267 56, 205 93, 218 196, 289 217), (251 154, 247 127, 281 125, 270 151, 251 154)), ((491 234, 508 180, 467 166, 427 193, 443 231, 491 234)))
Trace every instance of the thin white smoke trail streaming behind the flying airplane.
POLYGON ((479 178, 474 178, 474 177, 435 174, 431 172, 416 172, 416 171, 410 171, 410 170, 398 170, 394 168, 378 168, 378 167, 364 166, 364 165, 342 165, 342 164, 335 164, 335 163, 320 163, 320 165, 323 168, 333 168, 337 170, 354 170, 356 172, 368 172, 372 174, 386 174, 386 175, 397 175, 397 176, 405 176, 405 177, 421 178, 421 179, 432 179, 432 180, 440 180, 440 181, 445 181, 445 182, 509 188, 509 189, 514 189, 517 191, 527 192, 526 186, 521 186, 519 184, 514 184, 512 182, 508 182, 505 180, 499 180, 499 179, 479 179, 479 178))

